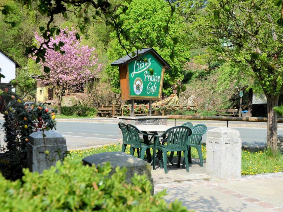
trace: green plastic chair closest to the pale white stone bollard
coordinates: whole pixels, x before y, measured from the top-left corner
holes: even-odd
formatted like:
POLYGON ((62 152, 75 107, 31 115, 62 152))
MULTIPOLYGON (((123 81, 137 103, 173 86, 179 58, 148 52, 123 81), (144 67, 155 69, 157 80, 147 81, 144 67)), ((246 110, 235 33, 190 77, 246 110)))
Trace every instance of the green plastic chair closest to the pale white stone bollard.
MULTIPOLYGON (((198 150, 198 157, 200 158, 200 166, 203 167, 203 161, 202 161, 202 151, 201 151, 201 139, 203 134, 206 132, 207 127, 205 126, 205 124, 197 124, 195 126, 192 127, 192 135, 188 138, 190 139, 189 145, 189 151, 188 151, 188 160, 189 163, 192 163, 192 154, 191 154, 191 147, 195 147, 198 150)), ((182 168, 184 168, 185 164, 183 160, 183 166, 182 168)))

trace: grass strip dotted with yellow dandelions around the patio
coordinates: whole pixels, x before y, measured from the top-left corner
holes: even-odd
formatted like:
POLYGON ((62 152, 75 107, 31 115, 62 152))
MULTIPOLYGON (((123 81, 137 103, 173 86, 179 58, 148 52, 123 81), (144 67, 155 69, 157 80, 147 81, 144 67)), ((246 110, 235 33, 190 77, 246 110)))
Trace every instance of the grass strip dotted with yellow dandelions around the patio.
MULTIPOLYGON (((126 148, 126 153, 130 153, 130 145, 126 148)), ((80 163, 86 156, 93 155, 100 152, 118 152, 121 151, 121 146, 111 144, 98 148, 91 148, 87 150, 74 150, 71 155, 67 156, 70 163, 80 163)), ((152 152, 152 150, 151 150, 152 152)), ((206 159, 206 147, 202 147, 203 159, 206 159)), ((268 151, 249 152, 242 151, 242 175, 254 175, 262 173, 283 172, 283 155, 270 156, 268 151)), ((135 152, 135 156, 137 153, 135 152)), ((183 156, 183 155, 182 155, 183 156)), ((177 157, 177 154, 174 154, 177 157)), ((196 148, 192 148, 192 157, 198 158, 196 148)))

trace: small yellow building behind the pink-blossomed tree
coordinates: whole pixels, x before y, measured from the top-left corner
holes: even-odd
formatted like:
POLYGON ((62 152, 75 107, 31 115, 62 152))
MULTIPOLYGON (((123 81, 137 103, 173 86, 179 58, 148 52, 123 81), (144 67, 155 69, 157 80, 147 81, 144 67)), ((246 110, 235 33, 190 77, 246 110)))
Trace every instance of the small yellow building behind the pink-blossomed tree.
POLYGON ((36 98, 38 102, 45 102, 48 100, 56 100, 56 95, 52 85, 46 85, 41 80, 37 81, 36 98))

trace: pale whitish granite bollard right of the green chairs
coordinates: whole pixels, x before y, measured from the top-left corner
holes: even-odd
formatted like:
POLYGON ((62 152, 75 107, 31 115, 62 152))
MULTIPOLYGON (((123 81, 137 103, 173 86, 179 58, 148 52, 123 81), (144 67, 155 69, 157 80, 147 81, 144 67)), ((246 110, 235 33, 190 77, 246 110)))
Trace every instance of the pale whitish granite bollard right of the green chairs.
POLYGON ((241 178, 242 139, 239 131, 218 127, 207 132, 206 174, 218 179, 241 178))

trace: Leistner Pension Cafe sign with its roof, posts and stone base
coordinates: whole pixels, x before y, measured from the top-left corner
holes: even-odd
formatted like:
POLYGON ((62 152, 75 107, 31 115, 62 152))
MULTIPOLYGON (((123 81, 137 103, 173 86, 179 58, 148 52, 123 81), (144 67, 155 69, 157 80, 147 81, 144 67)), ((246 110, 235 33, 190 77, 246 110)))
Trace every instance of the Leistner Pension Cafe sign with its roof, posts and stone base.
MULTIPOLYGON (((145 48, 135 52, 136 55, 126 55, 111 63, 119 66, 121 99, 131 101, 131 116, 120 116, 119 120, 125 124, 134 125, 166 125, 166 116, 152 116, 152 100, 161 100, 165 69, 171 66, 153 49, 145 48), (149 100, 148 116, 135 116, 134 101, 149 100)), ((119 129, 118 140, 122 141, 119 129)))

